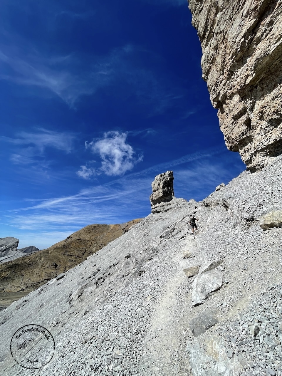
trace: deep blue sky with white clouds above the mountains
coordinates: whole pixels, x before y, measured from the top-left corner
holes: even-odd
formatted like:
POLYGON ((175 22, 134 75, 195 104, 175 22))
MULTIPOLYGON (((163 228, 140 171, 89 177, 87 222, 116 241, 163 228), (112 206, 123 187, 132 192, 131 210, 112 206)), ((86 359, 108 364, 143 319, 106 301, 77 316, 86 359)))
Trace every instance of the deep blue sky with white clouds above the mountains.
POLYGON ((0 30, 0 237, 43 249, 145 217, 159 173, 202 200, 245 169, 185 0, 2 0, 0 30))

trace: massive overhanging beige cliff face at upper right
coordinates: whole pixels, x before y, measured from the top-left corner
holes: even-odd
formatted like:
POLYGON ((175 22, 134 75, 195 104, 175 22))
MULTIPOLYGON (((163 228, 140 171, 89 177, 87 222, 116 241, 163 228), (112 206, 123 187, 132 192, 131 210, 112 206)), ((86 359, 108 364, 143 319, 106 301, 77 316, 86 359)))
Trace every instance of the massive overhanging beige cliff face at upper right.
POLYGON ((203 78, 229 150, 254 171, 282 153, 282 6, 190 0, 203 78))

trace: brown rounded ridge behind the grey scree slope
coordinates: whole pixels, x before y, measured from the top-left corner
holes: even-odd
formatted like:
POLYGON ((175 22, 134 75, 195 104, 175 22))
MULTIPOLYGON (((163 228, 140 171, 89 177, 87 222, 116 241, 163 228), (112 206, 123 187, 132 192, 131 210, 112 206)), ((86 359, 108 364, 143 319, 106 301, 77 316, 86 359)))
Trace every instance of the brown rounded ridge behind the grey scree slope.
POLYGON ((47 249, 0 265, 0 309, 80 264, 141 219, 123 224, 90 224, 47 249))

